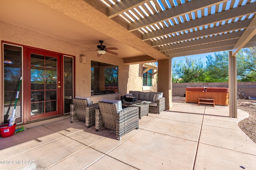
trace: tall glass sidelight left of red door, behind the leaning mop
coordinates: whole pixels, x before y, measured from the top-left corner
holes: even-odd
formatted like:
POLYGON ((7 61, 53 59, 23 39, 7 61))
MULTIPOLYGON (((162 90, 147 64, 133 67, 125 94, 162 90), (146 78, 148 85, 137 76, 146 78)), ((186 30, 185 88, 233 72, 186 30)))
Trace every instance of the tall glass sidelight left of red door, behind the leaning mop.
MULTIPOLYGON (((16 96, 22 76, 22 47, 4 44, 4 123, 8 123, 16 103, 16 96)), ((15 123, 22 122, 22 86, 17 98, 15 123)))

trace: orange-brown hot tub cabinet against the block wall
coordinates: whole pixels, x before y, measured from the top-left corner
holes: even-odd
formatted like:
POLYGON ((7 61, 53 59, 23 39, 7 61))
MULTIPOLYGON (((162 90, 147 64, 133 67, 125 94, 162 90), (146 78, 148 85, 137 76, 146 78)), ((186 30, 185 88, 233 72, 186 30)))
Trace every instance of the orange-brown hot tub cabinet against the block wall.
POLYGON ((228 106, 228 88, 188 87, 186 102, 198 103, 198 99, 214 99, 216 105, 228 106))

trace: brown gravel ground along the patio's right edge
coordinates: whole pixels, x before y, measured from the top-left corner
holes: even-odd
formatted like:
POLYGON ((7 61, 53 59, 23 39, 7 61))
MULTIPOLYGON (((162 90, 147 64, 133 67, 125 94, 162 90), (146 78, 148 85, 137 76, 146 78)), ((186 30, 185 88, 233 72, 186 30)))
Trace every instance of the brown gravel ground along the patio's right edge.
POLYGON ((256 100, 238 99, 237 108, 249 113, 249 117, 240 121, 238 126, 256 143, 256 100))

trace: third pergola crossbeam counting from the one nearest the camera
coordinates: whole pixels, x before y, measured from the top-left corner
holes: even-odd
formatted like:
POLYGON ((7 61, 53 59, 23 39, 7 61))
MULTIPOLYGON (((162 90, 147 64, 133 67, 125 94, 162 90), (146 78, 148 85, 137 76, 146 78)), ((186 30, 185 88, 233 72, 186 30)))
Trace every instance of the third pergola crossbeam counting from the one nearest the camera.
MULTIPOLYGON (((256 2, 253 2, 253 3, 255 3, 255 5, 256 5, 256 2)), ((193 28, 200 27, 203 25, 209 25, 211 23, 221 22, 224 20, 229 20, 232 18, 252 14, 254 12, 256 12, 255 6, 253 6, 251 4, 246 4, 243 6, 238 6, 237 8, 232 8, 227 11, 222 11, 222 12, 218 12, 218 13, 215 13, 212 15, 197 18, 196 20, 186 21, 182 24, 176 24, 176 25, 172 25, 170 27, 164 27, 164 28, 158 29, 156 31, 148 32, 146 34, 143 34, 142 40, 145 41, 148 39, 161 37, 164 35, 177 33, 180 31, 185 31, 188 29, 193 29, 193 28)))

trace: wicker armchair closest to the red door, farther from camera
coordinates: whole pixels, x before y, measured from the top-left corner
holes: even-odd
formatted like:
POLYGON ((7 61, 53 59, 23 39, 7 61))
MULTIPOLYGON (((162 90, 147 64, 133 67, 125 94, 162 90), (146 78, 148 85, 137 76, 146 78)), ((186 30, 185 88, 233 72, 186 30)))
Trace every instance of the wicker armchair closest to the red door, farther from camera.
POLYGON ((98 109, 98 103, 88 106, 84 99, 73 98, 73 104, 70 105, 70 123, 74 120, 85 121, 85 125, 89 128, 95 124, 95 109, 98 109))

